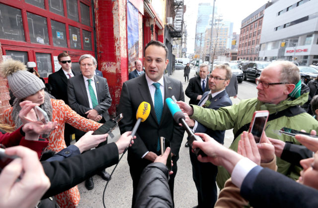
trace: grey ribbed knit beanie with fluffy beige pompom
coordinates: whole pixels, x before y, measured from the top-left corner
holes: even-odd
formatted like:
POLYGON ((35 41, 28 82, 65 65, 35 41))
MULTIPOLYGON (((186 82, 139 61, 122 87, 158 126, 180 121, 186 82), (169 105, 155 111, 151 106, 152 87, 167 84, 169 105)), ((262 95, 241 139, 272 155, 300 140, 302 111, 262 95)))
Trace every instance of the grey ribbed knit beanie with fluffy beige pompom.
POLYGON ((20 61, 2 62, 0 73, 8 80, 9 88, 17 99, 24 99, 45 88, 42 80, 26 71, 26 66, 20 61))

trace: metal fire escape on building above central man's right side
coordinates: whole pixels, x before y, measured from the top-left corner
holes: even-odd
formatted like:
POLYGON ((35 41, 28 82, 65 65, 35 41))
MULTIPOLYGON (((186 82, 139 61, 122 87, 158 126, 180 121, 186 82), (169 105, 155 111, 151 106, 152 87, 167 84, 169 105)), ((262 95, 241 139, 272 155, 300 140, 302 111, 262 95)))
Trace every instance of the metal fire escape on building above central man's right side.
POLYGON ((175 16, 173 20, 173 27, 169 33, 173 38, 182 38, 183 32, 183 0, 173 0, 175 16))

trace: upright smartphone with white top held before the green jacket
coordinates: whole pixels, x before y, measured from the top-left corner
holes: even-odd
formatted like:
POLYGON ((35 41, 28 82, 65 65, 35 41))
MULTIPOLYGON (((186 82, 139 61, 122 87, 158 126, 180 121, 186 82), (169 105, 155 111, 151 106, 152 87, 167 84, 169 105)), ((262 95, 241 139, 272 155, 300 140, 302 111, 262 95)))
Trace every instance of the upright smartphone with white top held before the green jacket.
POLYGON ((253 114, 248 132, 253 134, 256 144, 258 144, 262 138, 268 115, 268 110, 258 110, 253 114))

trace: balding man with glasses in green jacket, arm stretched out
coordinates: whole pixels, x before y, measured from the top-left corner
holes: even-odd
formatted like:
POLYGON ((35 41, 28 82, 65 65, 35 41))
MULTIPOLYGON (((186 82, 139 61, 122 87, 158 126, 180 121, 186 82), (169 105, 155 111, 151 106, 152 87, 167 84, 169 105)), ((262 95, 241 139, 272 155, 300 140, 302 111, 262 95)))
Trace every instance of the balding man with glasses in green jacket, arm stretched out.
MULTIPOLYGON (((269 64, 257 79, 257 98, 242 100, 239 104, 220 107, 218 110, 207 109, 196 105, 178 102, 181 108, 203 125, 214 130, 233 128, 234 141, 230 146, 237 151, 240 134, 248 130, 249 123, 256 110, 268 110, 269 117, 265 127, 268 137, 284 142, 300 144, 295 138, 278 135, 282 127, 310 132, 317 129, 318 121, 302 110, 302 105, 308 100, 308 93, 301 95, 301 82, 298 67, 288 61, 276 61, 269 64)), ((283 148, 283 147, 282 147, 283 148)), ((301 168, 277 158, 277 171, 292 179, 299 178, 301 168)), ((219 168, 217 183, 222 189, 230 174, 219 168)))

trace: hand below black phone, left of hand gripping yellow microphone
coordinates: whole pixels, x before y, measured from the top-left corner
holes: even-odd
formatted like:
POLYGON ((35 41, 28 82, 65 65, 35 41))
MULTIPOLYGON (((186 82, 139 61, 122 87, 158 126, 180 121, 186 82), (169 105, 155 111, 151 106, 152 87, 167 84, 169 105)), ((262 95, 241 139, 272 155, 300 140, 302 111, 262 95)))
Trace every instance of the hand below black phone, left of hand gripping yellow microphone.
POLYGON ((88 131, 74 145, 79 148, 79 152, 97 147, 99 143, 106 141, 108 134, 92 135, 93 131, 88 131))

